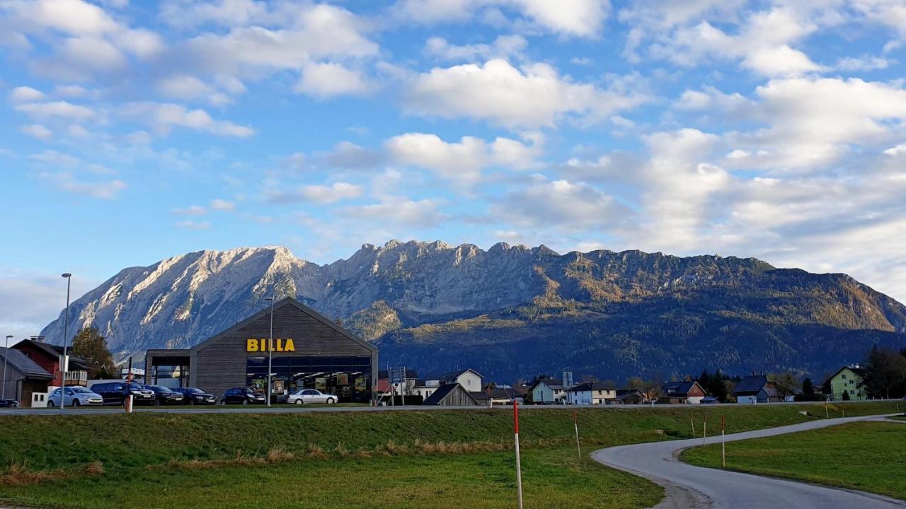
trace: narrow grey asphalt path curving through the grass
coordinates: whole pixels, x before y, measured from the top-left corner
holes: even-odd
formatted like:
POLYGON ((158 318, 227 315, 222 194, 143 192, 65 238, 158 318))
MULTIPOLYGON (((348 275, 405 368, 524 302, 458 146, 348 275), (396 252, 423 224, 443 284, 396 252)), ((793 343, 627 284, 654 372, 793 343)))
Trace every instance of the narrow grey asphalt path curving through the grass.
MULTIPOLYGON (((883 417, 833 418, 792 426, 773 427, 728 435, 727 441, 771 437, 846 422, 883 419, 883 417)), ((701 466, 691 466, 677 459, 679 452, 702 445, 701 438, 672 440, 610 447, 593 453, 593 458, 664 486, 667 497, 658 509, 902 509, 903 503, 880 495, 808 485, 740 474, 701 466)), ((719 444, 720 436, 708 437, 708 444, 719 444)))

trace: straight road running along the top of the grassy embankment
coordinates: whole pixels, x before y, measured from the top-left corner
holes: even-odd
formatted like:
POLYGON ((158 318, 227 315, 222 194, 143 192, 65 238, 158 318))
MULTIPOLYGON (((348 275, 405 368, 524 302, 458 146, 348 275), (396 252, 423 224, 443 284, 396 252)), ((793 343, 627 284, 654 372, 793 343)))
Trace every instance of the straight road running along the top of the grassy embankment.
MULTIPOLYGON (((876 401, 882 401, 882 399, 877 399, 876 401)), ((887 399, 887 401, 896 401, 900 402, 900 399, 887 399)), ((846 405, 850 402, 834 402, 834 405, 846 405)), ((852 403, 859 403, 859 401, 853 401, 852 403)), ((797 405, 814 405, 814 402, 799 402, 799 403, 759 403, 758 406, 797 406, 797 405)), ((620 408, 653 408, 657 409, 669 409, 669 408, 726 408, 726 407, 736 407, 736 406, 750 406, 748 404, 740 403, 721 403, 719 405, 595 405, 590 407, 588 405, 519 405, 520 410, 555 410, 555 409, 564 409, 564 408, 577 408, 577 409, 602 409, 602 410, 615 410, 620 408)), ((182 407, 150 407, 150 406, 140 406, 135 407, 136 413, 188 413, 188 414, 207 414, 207 413, 233 413, 233 414, 256 414, 256 413, 294 413, 294 412, 394 412, 394 411, 425 411, 425 410, 475 410, 487 407, 423 407, 420 405, 409 405, 406 407, 343 407, 340 405, 323 405, 323 406, 311 406, 311 405, 284 405, 279 404, 271 408, 267 408, 263 405, 230 405, 227 407, 221 407, 219 405, 214 405, 210 407, 191 407, 191 406, 182 406, 182 407)), ((496 410, 510 410, 509 405, 495 405, 494 409, 496 410)), ((69 416, 83 416, 83 415, 96 415, 96 414, 121 414, 123 413, 123 408, 116 407, 80 407, 72 408, 67 407, 64 410, 60 408, 0 408, 0 417, 5 416, 28 416, 28 415, 39 415, 39 416, 50 416, 50 415, 69 415, 69 416)))

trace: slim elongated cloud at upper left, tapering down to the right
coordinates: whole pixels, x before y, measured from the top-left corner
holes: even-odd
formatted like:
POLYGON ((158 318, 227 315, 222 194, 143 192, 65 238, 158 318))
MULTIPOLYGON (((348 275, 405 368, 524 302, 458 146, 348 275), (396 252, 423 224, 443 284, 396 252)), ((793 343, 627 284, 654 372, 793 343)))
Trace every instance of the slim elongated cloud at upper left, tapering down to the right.
POLYGON ((247 138, 255 134, 255 130, 248 126, 226 120, 214 120, 205 110, 187 110, 185 106, 179 104, 132 102, 123 105, 120 113, 146 122, 164 134, 169 133, 174 126, 236 138, 247 138))

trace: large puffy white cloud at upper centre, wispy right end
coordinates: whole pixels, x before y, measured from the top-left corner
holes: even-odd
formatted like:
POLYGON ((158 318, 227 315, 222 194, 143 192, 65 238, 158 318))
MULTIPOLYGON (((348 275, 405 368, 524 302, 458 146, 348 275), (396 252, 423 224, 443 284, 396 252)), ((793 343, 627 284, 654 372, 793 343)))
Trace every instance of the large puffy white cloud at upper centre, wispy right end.
POLYGON ((434 68, 408 85, 404 108, 442 118, 490 120, 506 127, 552 127, 564 116, 606 118, 647 101, 617 82, 610 90, 575 83, 545 63, 517 69, 504 60, 434 68), (527 107, 531 105, 531 107, 527 107))

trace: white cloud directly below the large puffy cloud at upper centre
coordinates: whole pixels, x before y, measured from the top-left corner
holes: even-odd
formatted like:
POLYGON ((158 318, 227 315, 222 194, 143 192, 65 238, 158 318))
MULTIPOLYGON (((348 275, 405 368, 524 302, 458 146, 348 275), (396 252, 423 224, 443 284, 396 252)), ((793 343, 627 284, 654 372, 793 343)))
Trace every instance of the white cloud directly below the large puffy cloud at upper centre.
POLYGON ((497 138, 488 144, 483 139, 464 136, 458 143, 448 143, 435 134, 420 132, 395 136, 384 146, 392 161, 433 169, 441 177, 466 187, 481 179, 483 168, 532 168, 541 153, 540 147, 516 139, 497 138))

